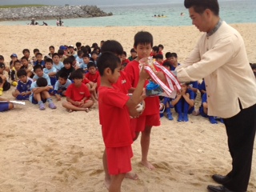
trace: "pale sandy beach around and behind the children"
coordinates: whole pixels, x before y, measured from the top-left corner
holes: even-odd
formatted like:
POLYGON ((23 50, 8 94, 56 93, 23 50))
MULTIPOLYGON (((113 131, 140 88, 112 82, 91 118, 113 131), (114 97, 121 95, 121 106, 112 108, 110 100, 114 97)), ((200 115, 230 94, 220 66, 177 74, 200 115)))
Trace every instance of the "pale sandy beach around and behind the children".
MULTIPOLYGON (((244 38, 249 62, 256 62, 256 24, 234 24, 244 38)), ((130 54, 134 34, 149 31, 154 45, 162 44, 163 52, 176 52, 182 63, 194 48, 201 33, 194 26, 136 27, 56 27, 1 26, 0 54, 10 62, 10 54, 22 57, 24 48, 38 48, 48 54, 48 47, 92 45, 114 39, 130 54)), ((10 90, 2 98, 13 100, 10 90)), ((62 98, 64 101, 65 98, 62 98)), ((61 102, 56 110, 38 110, 26 102, 14 110, 0 113, 0 191, 80 192, 107 191, 103 184, 101 126, 97 108, 68 113, 61 102)), ((199 106, 199 102, 196 103, 199 106)), ((161 118, 162 126, 151 134, 149 160, 156 167, 148 170, 139 164, 141 147, 134 142, 132 166, 139 179, 125 179, 122 191, 129 192, 195 192, 207 191, 214 184, 212 174, 226 174, 231 158, 226 144, 225 127, 212 125, 206 118, 190 115, 189 122, 161 118)), ((256 150, 248 191, 256 191, 256 150)))

